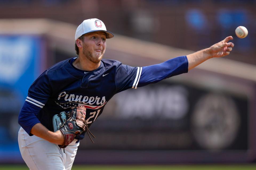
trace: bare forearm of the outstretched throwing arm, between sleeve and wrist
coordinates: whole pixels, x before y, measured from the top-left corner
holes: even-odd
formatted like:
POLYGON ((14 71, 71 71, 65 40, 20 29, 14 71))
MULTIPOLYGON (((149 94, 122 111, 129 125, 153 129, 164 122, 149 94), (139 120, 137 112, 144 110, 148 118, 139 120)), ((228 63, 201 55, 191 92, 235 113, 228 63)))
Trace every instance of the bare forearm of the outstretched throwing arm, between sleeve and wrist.
POLYGON ((210 53, 210 48, 206 48, 200 51, 197 51, 193 54, 187 55, 187 60, 189 62, 188 70, 193 69, 204 61, 212 58, 210 53))

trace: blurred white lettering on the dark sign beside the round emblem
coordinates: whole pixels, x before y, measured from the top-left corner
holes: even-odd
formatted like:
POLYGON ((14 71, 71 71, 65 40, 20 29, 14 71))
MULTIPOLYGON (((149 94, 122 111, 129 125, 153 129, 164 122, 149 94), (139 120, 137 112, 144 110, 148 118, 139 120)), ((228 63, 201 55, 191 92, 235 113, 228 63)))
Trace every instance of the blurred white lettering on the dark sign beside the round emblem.
POLYGON ((189 109, 188 92, 182 86, 159 86, 127 90, 115 97, 116 115, 123 118, 183 118, 189 109))

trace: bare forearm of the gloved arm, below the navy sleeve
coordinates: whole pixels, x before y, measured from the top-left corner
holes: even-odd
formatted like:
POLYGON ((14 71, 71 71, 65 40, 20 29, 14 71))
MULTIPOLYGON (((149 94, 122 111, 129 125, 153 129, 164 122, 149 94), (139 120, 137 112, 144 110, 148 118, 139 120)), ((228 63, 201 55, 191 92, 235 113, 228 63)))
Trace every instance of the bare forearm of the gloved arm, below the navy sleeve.
POLYGON ((59 130, 52 132, 41 123, 35 124, 30 133, 57 145, 62 145, 64 142, 64 137, 59 130))

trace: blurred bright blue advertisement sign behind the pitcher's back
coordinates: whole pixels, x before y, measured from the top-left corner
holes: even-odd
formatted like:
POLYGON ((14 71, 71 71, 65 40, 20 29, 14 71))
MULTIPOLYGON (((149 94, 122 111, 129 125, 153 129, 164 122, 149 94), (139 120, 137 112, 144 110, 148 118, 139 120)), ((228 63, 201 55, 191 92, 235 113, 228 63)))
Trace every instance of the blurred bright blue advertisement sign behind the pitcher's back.
POLYGON ((30 35, 0 35, 0 161, 21 159, 18 113, 44 66, 43 43, 30 35))

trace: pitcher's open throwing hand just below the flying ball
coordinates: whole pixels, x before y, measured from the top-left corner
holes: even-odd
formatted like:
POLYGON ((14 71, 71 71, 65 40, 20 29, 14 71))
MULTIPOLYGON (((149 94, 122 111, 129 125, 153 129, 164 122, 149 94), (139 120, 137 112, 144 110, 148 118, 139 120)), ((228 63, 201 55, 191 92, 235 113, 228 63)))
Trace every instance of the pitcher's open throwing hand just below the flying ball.
POLYGON ((229 55, 230 51, 232 51, 232 48, 234 47, 234 43, 229 42, 229 40, 233 40, 233 37, 228 36, 219 43, 212 45, 210 47, 211 57, 223 57, 229 55))

